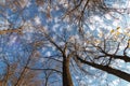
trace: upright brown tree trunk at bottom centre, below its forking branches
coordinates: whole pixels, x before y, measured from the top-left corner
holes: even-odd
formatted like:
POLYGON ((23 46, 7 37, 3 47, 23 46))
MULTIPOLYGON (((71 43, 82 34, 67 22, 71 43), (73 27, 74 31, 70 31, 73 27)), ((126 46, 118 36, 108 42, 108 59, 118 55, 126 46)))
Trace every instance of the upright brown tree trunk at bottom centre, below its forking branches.
POLYGON ((70 58, 63 59, 63 86, 74 86, 69 72, 69 59, 70 58))

